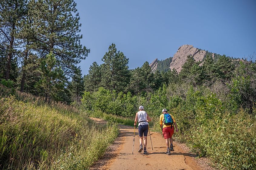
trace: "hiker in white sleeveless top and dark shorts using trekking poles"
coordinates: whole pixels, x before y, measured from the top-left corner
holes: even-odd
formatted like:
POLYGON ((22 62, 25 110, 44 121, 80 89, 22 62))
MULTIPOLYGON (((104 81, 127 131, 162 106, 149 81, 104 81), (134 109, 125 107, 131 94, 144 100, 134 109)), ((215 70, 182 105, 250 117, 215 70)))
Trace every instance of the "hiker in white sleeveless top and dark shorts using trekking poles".
POLYGON ((144 154, 147 154, 147 136, 148 136, 148 122, 151 121, 151 118, 148 116, 148 114, 144 111, 144 107, 140 106, 139 111, 136 113, 135 120, 134 120, 134 126, 136 126, 137 122, 138 124, 138 131, 140 136, 140 149, 138 152, 141 152, 143 150, 142 147, 142 141, 144 140, 144 154), (144 136, 144 139, 143 139, 144 136))

